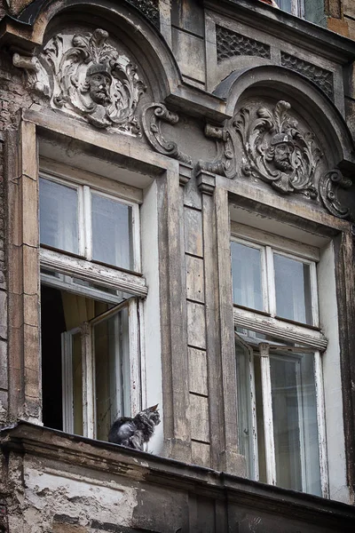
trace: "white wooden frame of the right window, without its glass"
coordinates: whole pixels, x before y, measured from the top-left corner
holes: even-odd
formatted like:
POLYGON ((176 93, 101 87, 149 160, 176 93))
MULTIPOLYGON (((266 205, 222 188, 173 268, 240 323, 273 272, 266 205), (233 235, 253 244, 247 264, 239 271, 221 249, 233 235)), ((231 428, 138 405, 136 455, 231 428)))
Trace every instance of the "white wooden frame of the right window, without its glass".
MULTIPOLYGON (((248 310, 241 306, 233 306, 233 322, 235 328, 243 328, 253 332, 259 332, 264 335, 269 335, 275 338, 280 338, 280 342, 288 341, 295 343, 295 347, 279 346, 269 342, 260 342, 257 346, 260 353, 261 373, 262 373, 262 396, 264 408, 264 442, 265 442, 265 458, 266 458, 266 477, 267 482, 276 484, 276 463, 275 463, 275 448, 273 441, 273 422, 272 422, 272 387, 270 376, 270 350, 282 349, 282 351, 290 353, 305 353, 310 352, 314 357, 314 377, 316 386, 316 402, 317 402, 317 422, 319 431, 319 466, 320 466, 320 484, 323 497, 329 496, 329 481, 327 472, 327 438, 325 425, 325 400, 323 391, 322 365, 321 353, 327 349, 327 338, 322 332, 317 329, 319 324, 319 306, 318 306, 318 292, 317 292, 317 272, 316 261, 319 260, 319 251, 312 246, 279 237, 278 235, 266 234, 263 231, 256 230, 252 227, 245 227, 238 223, 232 223, 232 237, 231 240, 237 243, 256 243, 264 246, 266 253, 266 270, 267 270, 267 284, 268 284, 268 309, 269 316, 258 313, 255 310, 248 310), (238 232, 238 235, 236 235, 238 232), (248 239, 248 240, 247 240, 248 239), (280 253, 285 257, 291 259, 301 260, 305 264, 311 266, 311 287, 312 287, 312 318, 314 325, 309 327, 307 324, 298 324, 288 322, 287 320, 280 320, 276 316, 276 301, 273 295, 274 290, 274 273, 273 273, 273 252, 280 253), (292 253, 293 252, 293 253, 292 253), (271 290, 270 290, 271 288, 271 290), (313 303, 314 302, 314 303, 313 303)), ((244 338, 241 334, 235 334, 238 341, 244 342, 249 346, 249 349, 255 349, 257 339, 244 338)), ((251 412, 256 413, 256 395, 255 395, 255 375, 254 375, 254 357, 249 356, 249 390, 251 412)), ((256 416, 251 419, 252 425, 252 449, 253 457, 252 464, 254 465, 254 473, 252 477, 259 479, 258 471, 258 444, 257 444, 257 426, 256 416)), ((304 473, 303 485, 305 488, 304 473)))

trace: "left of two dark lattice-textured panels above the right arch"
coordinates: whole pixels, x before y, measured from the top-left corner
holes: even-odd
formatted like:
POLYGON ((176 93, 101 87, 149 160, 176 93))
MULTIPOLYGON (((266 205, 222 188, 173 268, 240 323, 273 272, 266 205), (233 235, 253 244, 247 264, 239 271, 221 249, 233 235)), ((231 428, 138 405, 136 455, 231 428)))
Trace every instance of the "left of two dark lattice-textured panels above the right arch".
POLYGON ((268 44, 260 43, 250 37, 241 36, 228 28, 216 26, 217 62, 235 56, 256 56, 270 60, 268 44))

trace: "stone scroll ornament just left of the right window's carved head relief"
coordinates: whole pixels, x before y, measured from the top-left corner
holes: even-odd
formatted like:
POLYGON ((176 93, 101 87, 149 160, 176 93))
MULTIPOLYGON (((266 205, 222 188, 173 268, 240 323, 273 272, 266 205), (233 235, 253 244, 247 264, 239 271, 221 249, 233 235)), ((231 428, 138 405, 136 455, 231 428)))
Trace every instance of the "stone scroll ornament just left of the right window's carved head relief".
POLYGON ((233 179, 236 171, 236 160, 231 133, 227 128, 206 124, 205 135, 210 139, 217 140, 217 157, 213 161, 200 160, 197 164, 197 170, 201 169, 233 179))

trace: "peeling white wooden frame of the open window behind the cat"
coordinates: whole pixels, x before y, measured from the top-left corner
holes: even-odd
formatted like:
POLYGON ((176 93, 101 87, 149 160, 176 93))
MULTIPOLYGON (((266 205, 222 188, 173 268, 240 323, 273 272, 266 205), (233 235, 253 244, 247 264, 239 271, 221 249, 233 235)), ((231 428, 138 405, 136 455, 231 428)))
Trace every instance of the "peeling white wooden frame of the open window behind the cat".
MULTIPOLYGON (((95 412, 95 361, 93 354, 93 326, 106 320, 108 315, 119 313, 124 307, 128 307, 129 314, 129 376, 130 383, 130 413, 122 413, 128 416, 136 414, 142 407, 142 397, 145 397, 146 363, 143 346, 143 303, 142 298, 147 296, 146 279, 140 274, 140 224, 139 202, 132 202, 120 195, 120 184, 114 182, 112 189, 117 190, 109 194, 102 187, 95 187, 92 179, 85 183, 83 179, 78 183, 75 179, 52 175, 48 171, 40 171, 40 176, 50 179, 61 185, 78 190, 78 226, 79 226, 79 250, 82 257, 68 254, 65 251, 52 250, 42 247, 40 249, 40 266, 43 271, 51 271, 57 275, 41 272, 43 284, 73 292, 75 294, 96 298, 100 301, 115 304, 105 314, 99 315, 90 322, 83 322, 80 327, 70 330, 63 335, 62 344, 62 391, 63 391, 63 429, 68 433, 74 432, 74 404, 73 404, 73 372, 70 339, 75 333, 80 333, 82 338, 83 354, 83 436, 96 438, 96 412, 95 412), (95 194, 114 199, 120 203, 130 205, 132 208, 132 239, 133 239, 133 262, 134 271, 127 271, 120 267, 110 267, 91 260, 91 191, 95 194), (120 294, 110 294, 98 288, 85 287, 73 281, 73 278, 85 282, 94 283, 97 286, 106 287, 118 292, 129 293, 131 298, 122 301, 120 294)), ((122 187, 127 195, 127 187, 122 187)), ((129 191, 130 192, 130 191, 129 191)), ((132 196, 135 191, 132 191, 132 196)))

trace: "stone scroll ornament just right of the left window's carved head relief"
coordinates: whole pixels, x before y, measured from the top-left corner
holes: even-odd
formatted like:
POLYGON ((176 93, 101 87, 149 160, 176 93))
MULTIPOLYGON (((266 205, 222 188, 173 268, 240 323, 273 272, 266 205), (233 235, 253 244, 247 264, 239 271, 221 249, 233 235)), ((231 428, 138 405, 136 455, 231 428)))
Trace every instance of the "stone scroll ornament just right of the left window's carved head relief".
POLYGON ((163 155, 174 157, 183 163, 192 164, 190 155, 184 154, 177 143, 165 139, 162 133, 162 122, 175 125, 178 123, 178 115, 172 113, 163 104, 148 104, 143 109, 143 128, 148 139, 154 149, 163 155))

